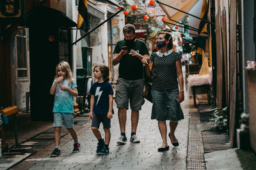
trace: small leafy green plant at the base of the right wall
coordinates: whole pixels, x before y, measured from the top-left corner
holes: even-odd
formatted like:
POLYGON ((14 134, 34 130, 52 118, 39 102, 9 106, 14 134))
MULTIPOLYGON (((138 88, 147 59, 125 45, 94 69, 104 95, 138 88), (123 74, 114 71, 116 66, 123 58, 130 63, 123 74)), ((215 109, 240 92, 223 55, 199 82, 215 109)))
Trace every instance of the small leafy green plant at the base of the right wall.
POLYGON ((214 108, 212 111, 211 121, 214 121, 216 124, 216 130, 226 131, 227 130, 227 107, 226 108, 214 108))

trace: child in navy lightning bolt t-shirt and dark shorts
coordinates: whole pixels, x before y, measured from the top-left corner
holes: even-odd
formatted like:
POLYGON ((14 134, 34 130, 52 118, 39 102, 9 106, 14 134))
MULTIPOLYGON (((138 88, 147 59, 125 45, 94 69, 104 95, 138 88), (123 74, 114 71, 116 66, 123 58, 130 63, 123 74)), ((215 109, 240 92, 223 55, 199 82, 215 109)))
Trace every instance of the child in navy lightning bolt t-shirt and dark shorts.
POLYGON ((105 155, 109 153, 110 141, 110 119, 113 117, 113 89, 109 83, 109 69, 104 64, 99 64, 93 68, 93 75, 98 80, 93 83, 90 94, 90 119, 92 120, 92 131, 98 139, 97 154, 105 155), (103 124, 105 132, 105 142, 99 132, 100 122, 103 124))

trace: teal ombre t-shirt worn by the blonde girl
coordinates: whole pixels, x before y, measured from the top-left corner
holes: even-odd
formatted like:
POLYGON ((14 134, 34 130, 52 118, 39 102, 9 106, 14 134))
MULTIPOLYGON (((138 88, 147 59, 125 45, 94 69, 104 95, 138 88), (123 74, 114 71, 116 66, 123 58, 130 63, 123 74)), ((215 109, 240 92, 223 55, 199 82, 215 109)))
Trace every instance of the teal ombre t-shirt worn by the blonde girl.
MULTIPOLYGON (((52 85, 54 84, 55 80, 53 81, 52 85)), ((63 80, 58 83, 56 90, 55 90, 55 97, 54 97, 54 106, 53 106, 53 113, 74 113, 73 108, 73 96, 67 90, 61 90, 60 85, 65 85, 70 89, 74 89, 77 87, 76 82, 73 80, 70 85, 68 85, 68 80, 63 80)))

